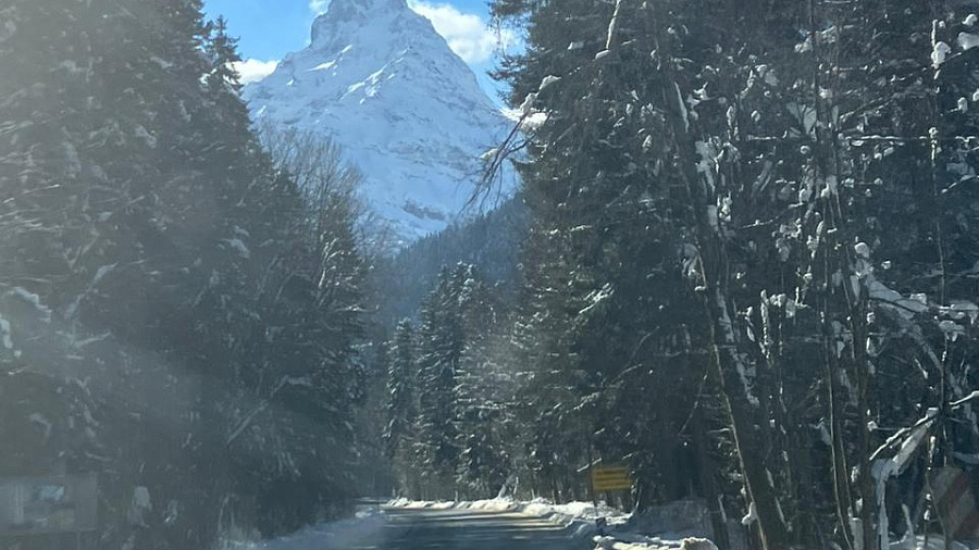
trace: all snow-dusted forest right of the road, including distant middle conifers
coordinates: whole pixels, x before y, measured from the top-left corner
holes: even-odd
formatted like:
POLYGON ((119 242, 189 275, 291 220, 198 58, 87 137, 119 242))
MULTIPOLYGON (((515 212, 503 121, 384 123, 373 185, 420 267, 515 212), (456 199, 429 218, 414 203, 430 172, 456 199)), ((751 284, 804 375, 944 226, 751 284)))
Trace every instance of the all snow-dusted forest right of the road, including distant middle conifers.
POLYGON ((979 462, 979 2, 493 9, 520 289, 447 270, 398 327, 402 491, 582 499, 600 461, 759 548, 940 532, 928 476, 979 462))

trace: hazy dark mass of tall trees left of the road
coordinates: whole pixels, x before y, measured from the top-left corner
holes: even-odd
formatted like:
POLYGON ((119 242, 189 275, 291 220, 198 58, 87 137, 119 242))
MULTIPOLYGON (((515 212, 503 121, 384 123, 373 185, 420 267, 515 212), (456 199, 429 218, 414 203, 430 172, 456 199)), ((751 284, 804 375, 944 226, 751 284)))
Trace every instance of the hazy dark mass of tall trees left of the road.
POLYGON ((12 0, 0 22, 0 476, 97 473, 89 548, 347 510, 346 176, 263 152, 198 0, 12 0))

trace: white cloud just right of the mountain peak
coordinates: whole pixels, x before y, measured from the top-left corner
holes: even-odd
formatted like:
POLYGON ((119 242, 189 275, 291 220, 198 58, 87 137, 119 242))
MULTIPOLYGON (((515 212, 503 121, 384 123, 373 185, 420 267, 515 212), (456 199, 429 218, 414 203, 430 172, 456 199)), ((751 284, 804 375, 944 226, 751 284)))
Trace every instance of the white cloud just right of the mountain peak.
POLYGON ((449 48, 467 63, 484 63, 500 43, 508 46, 513 41, 512 33, 497 33, 479 15, 462 13, 453 5, 422 0, 408 0, 408 5, 431 21, 449 48))

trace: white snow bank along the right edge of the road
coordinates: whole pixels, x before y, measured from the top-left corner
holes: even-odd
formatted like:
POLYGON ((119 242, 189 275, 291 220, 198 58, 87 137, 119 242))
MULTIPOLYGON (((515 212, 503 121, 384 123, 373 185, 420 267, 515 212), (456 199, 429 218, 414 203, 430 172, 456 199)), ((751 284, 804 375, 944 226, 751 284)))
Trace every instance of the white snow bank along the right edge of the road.
POLYGON ((484 512, 511 512, 541 517, 570 530, 573 537, 591 537, 596 550, 717 550, 702 538, 667 540, 633 533, 629 527, 632 514, 599 504, 597 511, 591 502, 554 504, 545 500, 519 502, 510 499, 492 499, 461 502, 393 500, 387 508, 407 510, 475 510, 484 512), (605 535, 599 535, 596 520, 606 521, 605 535))

